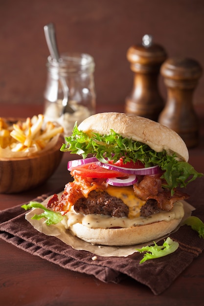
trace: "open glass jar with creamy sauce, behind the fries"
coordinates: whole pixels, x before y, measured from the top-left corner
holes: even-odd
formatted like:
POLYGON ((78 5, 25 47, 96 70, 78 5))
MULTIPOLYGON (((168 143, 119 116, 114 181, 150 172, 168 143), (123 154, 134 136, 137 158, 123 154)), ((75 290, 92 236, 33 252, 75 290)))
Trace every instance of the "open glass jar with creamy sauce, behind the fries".
POLYGON ((63 53, 59 63, 49 56, 46 66, 45 121, 57 121, 69 136, 76 121, 79 125, 95 113, 94 60, 85 53, 63 53))

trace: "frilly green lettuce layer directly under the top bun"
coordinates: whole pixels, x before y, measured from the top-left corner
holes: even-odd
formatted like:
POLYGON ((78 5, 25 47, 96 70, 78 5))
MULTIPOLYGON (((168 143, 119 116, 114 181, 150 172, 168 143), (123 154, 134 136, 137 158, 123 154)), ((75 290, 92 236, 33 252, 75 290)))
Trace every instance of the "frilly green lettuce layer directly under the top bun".
POLYGON ((186 187, 189 182, 203 176, 187 162, 178 161, 176 154, 170 156, 166 154, 166 151, 156 152, 148 145, 128 137, 124 138, 113 130, 109 135, 85 133, 79 131, 75 124, 72 135, 66 137, 66 141, 67 143, 63 144, 60 150, 81 155, 83 158, 91 154, 99 161, 106 163, 107 159, 116 162, 120 157, 124 157, 125 163, 139 160, 145 167, 159 165, 164 171, 162 178, 166 180, 163 187, 170 189, 172 194, 174 188, 186 187))

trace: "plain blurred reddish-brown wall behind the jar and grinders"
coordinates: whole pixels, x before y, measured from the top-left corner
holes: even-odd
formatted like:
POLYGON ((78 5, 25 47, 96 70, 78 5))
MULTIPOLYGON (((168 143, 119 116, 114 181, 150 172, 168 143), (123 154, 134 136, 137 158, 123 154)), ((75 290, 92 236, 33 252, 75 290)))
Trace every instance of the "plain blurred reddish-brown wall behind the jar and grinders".
MULTIPOLYGON (((144 34, 204 67, 204 0, 0 0, 0 105, 43 104, 48 22, 61 52, 94 57, 98 105, 124 103, 133 85, 126 52, 144 34)), ((166 98, 162 78, 159 87, 166 98)), ((204 104, 204 76, 194 103, 204 104)))

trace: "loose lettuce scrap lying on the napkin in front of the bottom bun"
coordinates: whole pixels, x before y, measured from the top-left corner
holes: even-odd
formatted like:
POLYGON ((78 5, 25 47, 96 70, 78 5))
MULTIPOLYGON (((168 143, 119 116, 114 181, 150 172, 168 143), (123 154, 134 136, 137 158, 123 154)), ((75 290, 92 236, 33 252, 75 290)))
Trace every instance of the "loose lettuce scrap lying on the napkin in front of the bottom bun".
POLYGON ((154 243, 155 245, 153 246, 151 245, 143 246, 141 249, 136 249, 140 253, 146 252, 142 260, 139 262, 139 264, 146 262, 150 259, 155 259, 155 258, 169 255, 175 252, 179 247, 179 243, 176 241, 173 241, 170 237, 164 240, 163 245, 158 245, 156 242, 154 243))

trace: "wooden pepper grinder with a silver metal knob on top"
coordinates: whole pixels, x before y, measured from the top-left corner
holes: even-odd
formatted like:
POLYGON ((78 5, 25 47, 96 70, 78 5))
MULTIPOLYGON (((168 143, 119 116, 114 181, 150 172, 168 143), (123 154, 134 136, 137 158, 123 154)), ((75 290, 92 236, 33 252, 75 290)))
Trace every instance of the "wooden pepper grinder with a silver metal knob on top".
POLYGON ((125 101, 125 112, 157 121, 164 101, 158 90, 161 64, 166 51, 154 44, 151 35, 144 35, 142 44, 133 45, 127 51, 127 59, 134 72, 134 86, 125 101))

